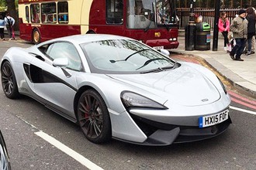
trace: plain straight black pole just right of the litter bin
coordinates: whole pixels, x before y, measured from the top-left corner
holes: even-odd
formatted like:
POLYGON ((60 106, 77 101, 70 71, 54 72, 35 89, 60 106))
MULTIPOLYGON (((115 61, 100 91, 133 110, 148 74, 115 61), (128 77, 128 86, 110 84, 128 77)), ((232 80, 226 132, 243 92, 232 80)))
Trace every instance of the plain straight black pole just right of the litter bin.
POLYGON ((218 50, 219 18, 220 18, 220 0, 216 0, 215 1, 215 15, 214 15, 214 29, 213 29, 213 51, 218 50))

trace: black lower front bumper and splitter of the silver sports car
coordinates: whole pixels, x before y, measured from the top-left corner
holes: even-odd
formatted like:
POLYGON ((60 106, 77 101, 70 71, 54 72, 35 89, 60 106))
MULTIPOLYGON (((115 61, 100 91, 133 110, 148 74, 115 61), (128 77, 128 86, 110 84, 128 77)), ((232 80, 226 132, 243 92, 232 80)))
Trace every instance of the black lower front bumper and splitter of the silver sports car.
MULTIPOLYGON (((199 128, 194 126, 178 126, 171 124, 161 124, 159 122, 149 121, 131 115, 144 134, 147 135, 147 140, 143 143, 126 141, 137 145, 152 145, 164 146, 175 143, 185 143, 192 141, 201 141, 207 138, 213 138, 222 134, 232 124, 231 118, 223 121, 220 124, 215 124, 207 128, 199 128)), ((116 138, 117 140, 124 141, 116 138)))

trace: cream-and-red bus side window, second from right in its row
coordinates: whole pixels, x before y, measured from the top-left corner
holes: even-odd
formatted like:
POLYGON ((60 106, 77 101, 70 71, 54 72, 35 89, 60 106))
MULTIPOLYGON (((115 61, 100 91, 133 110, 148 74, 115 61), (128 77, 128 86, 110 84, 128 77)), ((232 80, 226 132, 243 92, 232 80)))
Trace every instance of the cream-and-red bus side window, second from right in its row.
POLYGON ((43 23, 56 23, 56 3, 43 3, 41 5, 41 18, 43 23))

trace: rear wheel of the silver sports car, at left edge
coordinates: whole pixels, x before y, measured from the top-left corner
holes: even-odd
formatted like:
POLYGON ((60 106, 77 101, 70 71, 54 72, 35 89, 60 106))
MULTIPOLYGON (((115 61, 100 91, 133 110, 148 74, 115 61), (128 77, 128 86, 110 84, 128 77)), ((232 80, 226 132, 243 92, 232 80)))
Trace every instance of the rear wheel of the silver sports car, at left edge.
POLYGON ((16 76, 12 70, 12 66, 8 61, 2 64, 2 90, 4 90, 5 96, 10 99, 16 99, 19 97, 18 86, 16 83, 16 76))

